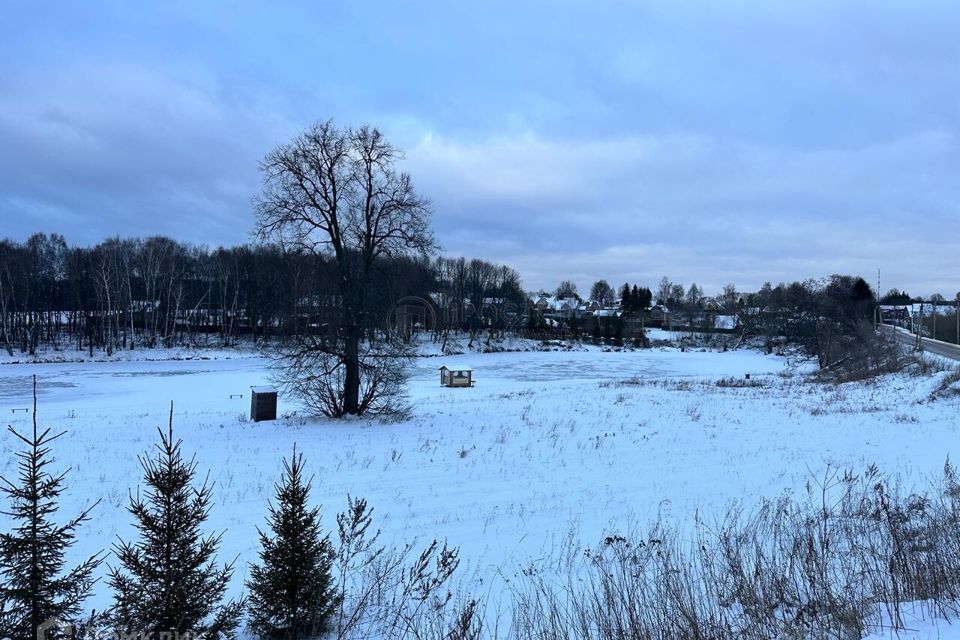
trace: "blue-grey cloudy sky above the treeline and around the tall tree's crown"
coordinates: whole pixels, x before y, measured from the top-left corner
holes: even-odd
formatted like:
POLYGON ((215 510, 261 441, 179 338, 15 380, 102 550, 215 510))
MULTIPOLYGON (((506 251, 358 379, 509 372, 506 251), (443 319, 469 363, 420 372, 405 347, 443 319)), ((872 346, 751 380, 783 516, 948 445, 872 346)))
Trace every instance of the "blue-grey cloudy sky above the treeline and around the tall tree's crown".
POLYGON ((960 3, 20 2, 0 235, 246 242, 310 123, 406 152, 445 252, 528 288, 960 289, 960 3))

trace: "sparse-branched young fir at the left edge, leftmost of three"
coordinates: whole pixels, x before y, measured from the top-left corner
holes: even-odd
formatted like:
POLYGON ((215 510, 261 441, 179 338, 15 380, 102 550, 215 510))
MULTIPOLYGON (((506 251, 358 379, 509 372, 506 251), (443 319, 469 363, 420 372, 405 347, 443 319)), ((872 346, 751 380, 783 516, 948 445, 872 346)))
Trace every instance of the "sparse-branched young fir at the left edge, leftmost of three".
POLYGON ((16 483, 0 478, 9 498, 3 513, 13 521, 0 534, 0 638, 35 638, 37 628, 51 618, 76 623, 81 604, 95 582, 93 572, 101 554, 72 570, 64 570, 64 552, 76 542, 78 527, 88 519, 89 507, 73 520, 53 521, 66 472, 53 474, 49 466, 50 443, 66 432, 51 434, 37 428, 37 379, 33 379, 33 433, 22 435, 8 427, 26 450, 17 452, 16 483))

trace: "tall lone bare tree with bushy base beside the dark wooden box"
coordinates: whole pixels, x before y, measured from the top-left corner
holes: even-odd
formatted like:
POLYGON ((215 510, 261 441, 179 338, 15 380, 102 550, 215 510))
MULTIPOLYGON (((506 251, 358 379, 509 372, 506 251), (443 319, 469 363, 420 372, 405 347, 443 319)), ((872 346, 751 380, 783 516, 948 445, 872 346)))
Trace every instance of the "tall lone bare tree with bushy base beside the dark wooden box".
MULTIPOLYGON (((396 170, 400 158, 377 129, 338 128, 327 121, 277 147, 260 164, 258 236, 294 251, 330 256, 336 265, 336 316, 317 328, 323 329, 320 335, 308 335, 308 327, 279 353, 291 364, 287 370, 296 370, 298 361, 317 361, 322 375, 309 376, 295 388, 323 394, 317 407, 332 417, 392 406, 362 398, 365 374, 378 370, 378 359, 391 356, 362 344, 364 337, 370 339, 367 329, 374 320, 367 290, 378 262, 434 247, 429 203, 410 177, 396 170), (307 383, 314 386, 308 390, 307 383)), ((393 384, 373 386, 381 394, 395 389, 393 384)))

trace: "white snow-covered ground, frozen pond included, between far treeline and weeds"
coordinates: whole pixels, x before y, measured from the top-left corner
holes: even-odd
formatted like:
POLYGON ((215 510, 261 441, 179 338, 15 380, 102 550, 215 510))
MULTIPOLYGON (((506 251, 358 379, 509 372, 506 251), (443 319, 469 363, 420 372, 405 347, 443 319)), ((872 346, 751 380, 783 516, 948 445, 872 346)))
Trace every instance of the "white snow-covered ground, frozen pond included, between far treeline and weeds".
MULTIPOLYGON (((935 377, 828 386, 789 364, 676 349, 423 358, 410 385, 414 416, 397 424, 305 419, 283 398, 282 419, 254 424, 249 387, 268 382, 267 362, 254 355, 5 364, 0 413, 29 427, 30 416, 12 410, 30 405, 36 374, 41 425, 69 430, 54 450, 58 466, 72 468, 62 515, 103 500, 74 555, 132 537, 137 455, 152 448, 173 401, 176 434, 217 485, 212 526, 226 531, 220 558, 239 557, 236 591, 296 443, 328 527, 347 494, 365 497, 388 540, 446 538, 461 548, 461 575, 495 597, 499 580, 571 530, 593 542, 658 515, 682 523, 731 500, 799 489, 827 464, 876 463, 920 483, 960 453, 960 401, 928 401, 935 377), (477 386, 440 387, 437 368, 449 363, 472 365, 477 386), (758 386, 717 384, 746 374, 758 386)), ((8 434, 0 447, 10 477, 17 445, 8 434)), ((101 583, 89 604, 108 603, 101 583)), ((936 633, 920 637, 947 637, 936 633)))

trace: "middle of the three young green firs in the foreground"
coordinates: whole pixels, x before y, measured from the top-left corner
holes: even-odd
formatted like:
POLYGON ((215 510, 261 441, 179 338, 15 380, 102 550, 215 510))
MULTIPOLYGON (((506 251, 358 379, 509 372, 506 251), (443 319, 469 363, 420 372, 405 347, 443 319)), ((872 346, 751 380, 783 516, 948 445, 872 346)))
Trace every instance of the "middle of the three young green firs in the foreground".
MULTIPOLYGON (((204 536, 212 485, 192 483, 197 463, 185 461, 173 439, 173 405, 167 432, 160 431, 155 458, 143 456, 145 496, 131 496, 129 511, 140 532, 137 542, 114 545, 120 567, 111 568, 111 614, 121 633, 233 637, 243 602, 223 602, 233 563, 217 566, 222 535, 204 536)), ((176 637, 176 636, 174 636, 176 637)))

